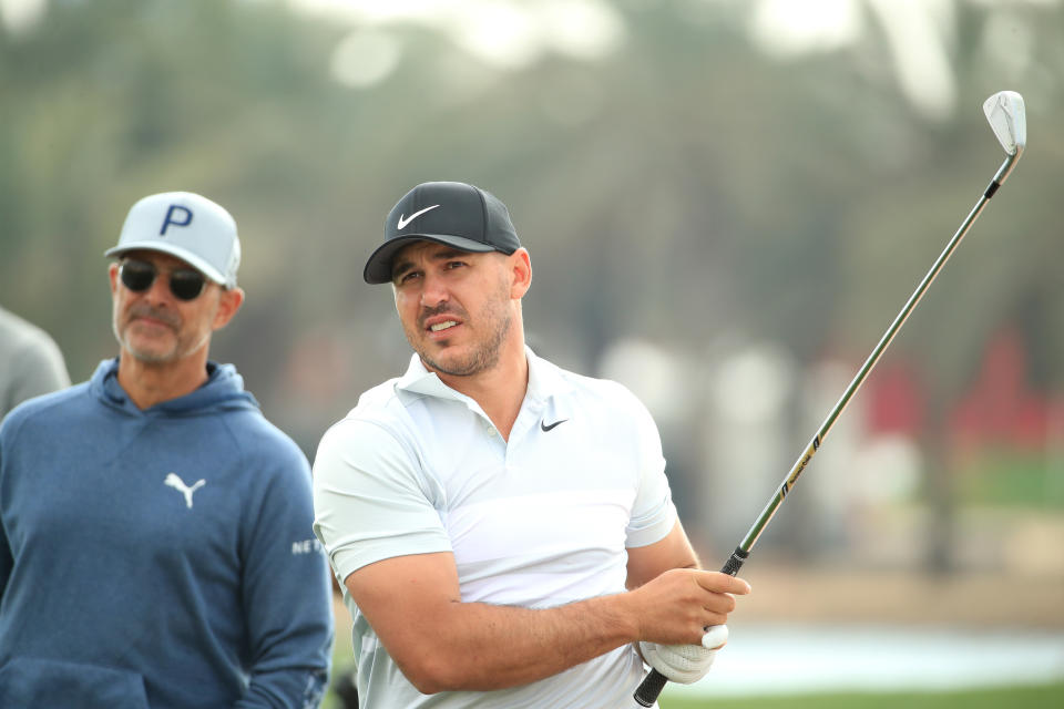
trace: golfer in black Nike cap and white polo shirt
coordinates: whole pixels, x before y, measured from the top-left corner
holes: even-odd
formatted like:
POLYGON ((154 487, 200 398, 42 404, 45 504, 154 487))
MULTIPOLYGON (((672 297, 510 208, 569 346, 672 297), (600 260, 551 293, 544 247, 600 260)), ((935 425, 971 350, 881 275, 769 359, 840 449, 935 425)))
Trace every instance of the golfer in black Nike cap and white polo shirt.
POLYGON ((364 277, 391 284, 413 349, 314 464, 364 709, 616 709, 644 660, 705 675, 749 586, 699 571, 635 397, 525 346, 532 266, 505 206, 418 185, 364 277))

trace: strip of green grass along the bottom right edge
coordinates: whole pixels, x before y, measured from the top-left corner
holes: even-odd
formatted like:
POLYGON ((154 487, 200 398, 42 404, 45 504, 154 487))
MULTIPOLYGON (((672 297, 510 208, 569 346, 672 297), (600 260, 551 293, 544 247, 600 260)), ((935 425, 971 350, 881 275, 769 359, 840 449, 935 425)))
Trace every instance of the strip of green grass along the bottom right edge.
POLYGON ((1060 709, 1064 682, 935 692, 828 693, 719 699, 662 698, 661 709, 1060 709))

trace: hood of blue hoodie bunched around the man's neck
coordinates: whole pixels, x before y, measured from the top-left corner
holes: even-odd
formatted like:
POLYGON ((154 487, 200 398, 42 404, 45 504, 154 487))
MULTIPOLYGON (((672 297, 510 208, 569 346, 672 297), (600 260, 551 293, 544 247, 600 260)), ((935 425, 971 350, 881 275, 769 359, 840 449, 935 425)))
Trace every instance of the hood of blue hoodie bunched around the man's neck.
POLYGON ((192 415, 214 413, 233 409, 258 411, 258 402, 252 392, 244 390, 244 378, 233 364, 207 362, 207 381, 195 391, 163 401, 141 411, 119 383, 119 358, 100 362, 89 381, 92 394, 103 404, 136 415, 160 413, 166 415, 192 415))

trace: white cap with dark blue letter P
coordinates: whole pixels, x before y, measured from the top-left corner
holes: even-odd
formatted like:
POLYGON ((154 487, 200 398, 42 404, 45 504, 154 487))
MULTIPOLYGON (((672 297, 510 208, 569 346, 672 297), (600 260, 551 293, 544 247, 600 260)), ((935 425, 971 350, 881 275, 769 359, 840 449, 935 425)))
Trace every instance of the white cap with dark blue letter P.
POLYGON ((241 265, 236 222, 221 205, 191 192, 164 192, 139 201, 122 225, 117 246, 104 256, 146 249, 176 256, 211 280, 233 288, 241 265))

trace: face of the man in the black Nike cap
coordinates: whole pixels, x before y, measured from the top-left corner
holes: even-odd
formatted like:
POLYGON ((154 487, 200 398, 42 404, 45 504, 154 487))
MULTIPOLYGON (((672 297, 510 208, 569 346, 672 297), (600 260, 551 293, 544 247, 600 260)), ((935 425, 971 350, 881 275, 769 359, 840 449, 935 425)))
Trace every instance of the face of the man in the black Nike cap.
POLYGON ((491 369, 514 306, 507 257, 416 242, 392 260, 396 309, 410 347, 432 371, 468 377, 491 369))

